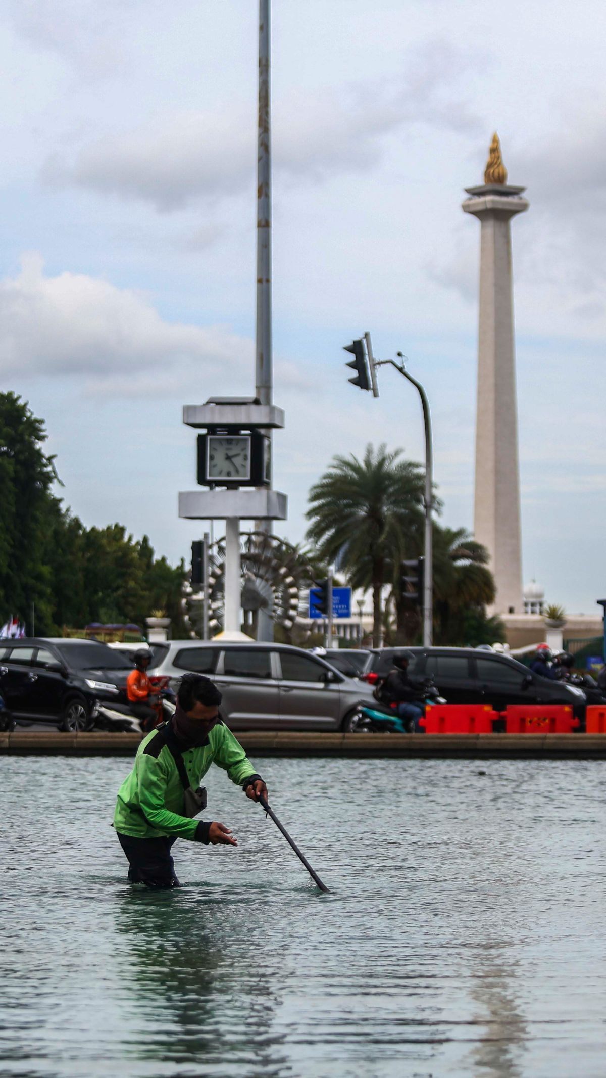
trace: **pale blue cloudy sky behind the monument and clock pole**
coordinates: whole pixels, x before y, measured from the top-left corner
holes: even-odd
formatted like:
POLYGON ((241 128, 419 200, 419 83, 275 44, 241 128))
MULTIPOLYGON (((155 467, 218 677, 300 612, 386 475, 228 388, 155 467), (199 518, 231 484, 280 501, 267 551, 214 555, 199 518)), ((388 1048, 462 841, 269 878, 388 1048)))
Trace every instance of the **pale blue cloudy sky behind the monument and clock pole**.
MULTIPOLYGON (((513 222, 524 577, 606 593, 606 9, 560 0, 273 0, 276 485, 300 540, 334 453, 422 459, 395 372, 429 395, 443 520, 473 523, 481 182, 513 222)), ((254 388, 256 0, 0 0, 0 385, 47 424, 86 524, 188 556, 181 406, 254 388)))

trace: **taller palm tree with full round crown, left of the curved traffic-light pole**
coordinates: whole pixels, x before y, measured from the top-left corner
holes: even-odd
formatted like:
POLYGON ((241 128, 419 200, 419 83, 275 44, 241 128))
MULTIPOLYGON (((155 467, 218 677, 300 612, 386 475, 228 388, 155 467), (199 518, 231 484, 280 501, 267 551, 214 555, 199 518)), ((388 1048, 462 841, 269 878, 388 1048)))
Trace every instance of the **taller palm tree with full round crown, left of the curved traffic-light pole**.
POLYGON ((381 638, 381 589, 394 579, 409 536, 423 523, 424 472, 418 464, 366 446, 364 459, 336 456, 309 492, 308 539, 337 562, 353 588, 372 589, 372 644, 381 638))

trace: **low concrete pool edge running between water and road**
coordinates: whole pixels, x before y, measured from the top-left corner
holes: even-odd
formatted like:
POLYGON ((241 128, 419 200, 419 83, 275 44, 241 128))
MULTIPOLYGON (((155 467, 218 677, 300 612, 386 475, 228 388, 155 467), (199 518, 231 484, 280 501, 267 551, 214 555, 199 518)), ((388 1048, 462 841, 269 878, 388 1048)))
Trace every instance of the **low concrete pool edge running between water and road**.
MULTIPOLYGON (((606 734, 343 734, 236 731, 246 752, 260 756, 352 759, 606 759, 606 734)), ((0 733, 8 756, 133 756, 139 734, 0 733)))

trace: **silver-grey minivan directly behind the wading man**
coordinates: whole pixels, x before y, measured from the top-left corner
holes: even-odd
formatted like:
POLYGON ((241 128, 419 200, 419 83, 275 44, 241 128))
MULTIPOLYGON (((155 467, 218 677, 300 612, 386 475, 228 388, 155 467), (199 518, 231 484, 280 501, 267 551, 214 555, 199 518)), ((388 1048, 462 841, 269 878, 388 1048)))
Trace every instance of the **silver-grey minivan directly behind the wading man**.
POLYGON ((186 671, 212 678, 232 730, 348 730, 357 704, 372 699, 370 686, 286 644, 169 640, 153 650, 150 674, 173 689, 186 671))

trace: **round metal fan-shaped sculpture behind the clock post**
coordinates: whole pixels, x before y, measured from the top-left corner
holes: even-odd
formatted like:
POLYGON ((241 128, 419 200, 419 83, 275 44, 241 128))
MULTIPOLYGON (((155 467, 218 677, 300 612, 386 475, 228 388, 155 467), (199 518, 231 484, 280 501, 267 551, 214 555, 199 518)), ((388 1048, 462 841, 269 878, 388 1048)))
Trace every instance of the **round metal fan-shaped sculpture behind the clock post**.
MULTIPOLYGON (((240 536, 242 572, 242 616, 251 635, 256 630, 257 611, 267 613, 278 625, 291 630, 305 613, 300 593, 312 581, 312 569, 304 551, 278 536, 243 531, 240 536)), ((223 627, 225 594, 225 538, 212 547, 209 573, 209 628, 223 627)))

